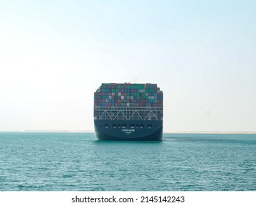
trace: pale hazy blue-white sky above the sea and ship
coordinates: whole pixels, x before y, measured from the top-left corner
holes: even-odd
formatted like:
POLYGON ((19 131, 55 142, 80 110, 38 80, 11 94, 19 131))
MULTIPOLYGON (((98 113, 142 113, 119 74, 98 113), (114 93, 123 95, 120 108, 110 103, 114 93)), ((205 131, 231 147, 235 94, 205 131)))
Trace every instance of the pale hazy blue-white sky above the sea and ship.
POLYGON ((93 130, 102 82, 157 83, 165 132, 256 131, 255 8, 0 0, 0 131, 93 130))

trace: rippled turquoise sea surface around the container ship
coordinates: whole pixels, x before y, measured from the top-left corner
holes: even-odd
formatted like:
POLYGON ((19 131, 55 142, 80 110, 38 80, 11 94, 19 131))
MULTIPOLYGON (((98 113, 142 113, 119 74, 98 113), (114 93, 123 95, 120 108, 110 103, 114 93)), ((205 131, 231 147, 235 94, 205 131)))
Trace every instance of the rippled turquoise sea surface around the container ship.
POLYGON ((256 135, 0 132, 0 191, 256 191, 256 135))

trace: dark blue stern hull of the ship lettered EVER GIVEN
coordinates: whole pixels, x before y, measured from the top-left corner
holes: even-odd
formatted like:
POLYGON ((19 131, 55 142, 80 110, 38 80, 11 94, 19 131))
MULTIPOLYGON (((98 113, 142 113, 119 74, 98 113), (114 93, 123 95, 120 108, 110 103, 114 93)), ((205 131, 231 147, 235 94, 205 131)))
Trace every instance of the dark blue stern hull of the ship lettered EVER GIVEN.
POLYGON ((94 120, 100 141, 162 141, 162 121, 94 120))

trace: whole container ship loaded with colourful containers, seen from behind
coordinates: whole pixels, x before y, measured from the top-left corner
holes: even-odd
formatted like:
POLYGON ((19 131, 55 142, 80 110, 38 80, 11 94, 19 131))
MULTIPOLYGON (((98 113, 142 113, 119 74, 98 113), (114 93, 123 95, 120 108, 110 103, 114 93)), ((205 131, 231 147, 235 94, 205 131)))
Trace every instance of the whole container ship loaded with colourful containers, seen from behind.
POLYGON ((162 90, 156 84, 100 85, 94 92, 94 129, 103 141, 162 141, 162 90))

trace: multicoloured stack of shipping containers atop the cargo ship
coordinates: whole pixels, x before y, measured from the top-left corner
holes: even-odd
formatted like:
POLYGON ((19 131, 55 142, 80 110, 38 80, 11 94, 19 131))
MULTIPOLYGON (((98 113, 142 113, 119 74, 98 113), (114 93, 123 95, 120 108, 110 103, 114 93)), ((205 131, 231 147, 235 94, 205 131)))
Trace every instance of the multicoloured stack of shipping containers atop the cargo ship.
POLYGON ((156 84, 102 84, 94 93, 96 107, 163 107, 156 84))

